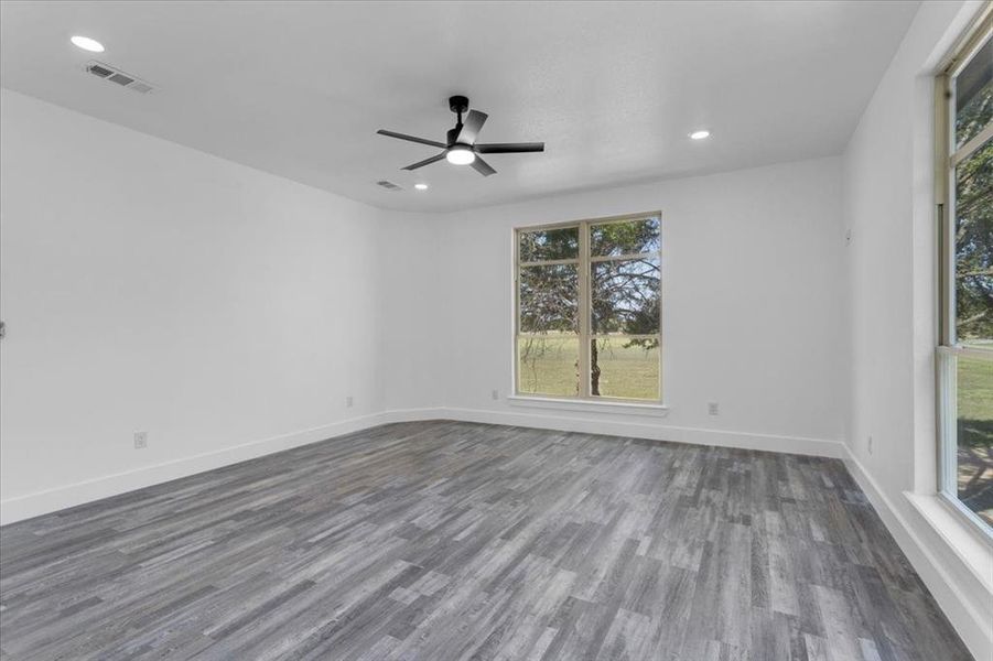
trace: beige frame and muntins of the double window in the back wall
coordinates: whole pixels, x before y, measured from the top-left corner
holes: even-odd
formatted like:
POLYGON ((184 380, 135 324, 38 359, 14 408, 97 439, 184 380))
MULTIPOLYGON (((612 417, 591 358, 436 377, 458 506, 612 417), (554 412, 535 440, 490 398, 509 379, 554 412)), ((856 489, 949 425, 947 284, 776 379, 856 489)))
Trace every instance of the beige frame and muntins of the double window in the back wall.
MULTIPOLYGON (((512 293, 512 322, 511 322, 511 368, 510 368, 510 393, 508 400, 516 403, 541 403, 542 405, 559 405, 561 404, 563 408, 571 409, 582 409, 582 404, 590 404, 595 407, 595 409, 604 409, 604 408, 616 408, 616 409, 632 409, 634 410, 644 410, 648 411, 667 411, 668 409, 663 404, 665 401, 665 351, 666 345, 663 342, 665 337, 665 278, 662 278, 662 271, 665 270, 665 263, 662 261, 662 247, 665 241, 662 240, 662 212, 654 210, 654 212, 643 212, 643 213, 634 213, 634 214, 623 214, 618 216, 604 216, 597 218, 584 218, 580 220, 565 220, 561 223, 544 223, 539 225, 524 225, 516 226, 511 230, 511 240, 514 242, 512 251, 512 277, 511 277, 511 286, 514 288, 512 293), (619 254, 619 256, 591 256, 590 254, 590 227, 594 225, 609 225, 614 223, 630 223, 632 220, 641 220, 645 218, 658 218, 659 220, 659 249, 655 252, 638 252, 633 254, 619 254), (520 261, 520 240, 519 235, 521 232, 530 232, 530 231, 540 231, 540 230, 549 230, 549 229, 564 229, 575 227, 579 230, 579 251, 575 259, 558 259, 558 260, 547 260, 547 261, 520 261), (609 397, 609 395, 593 395, 590 394, 590 348, 586 346, 591 339, 600 339, 600 338, 629 338, 629 337, 655 337, 655 334, 649 335, 628 335, 628 334, 597 334, 594 335, 591 333, 591 316, 592 316, 592 300, 590 294, 590 268, 594 263, 601 263, 605 261, 622 261, 626 259, 638 259, 644 258, 645 256, 657 256, 659 260, 659 399, 633 399, 633 398, 620 398, 620 397, 609 397), (576 337, 579 339, 580 351, 579 351, 579 393, 575 397, 572 395, 555 395, 555 394, 547 394, 547 393, 530 393, 530 392, 521 392, 519 390, 519 379, 518 379, 518 348, 519 343, 518 339, 521 336, 535 335, 529 333, 520 332, 520 269, 526 267, 537 267, 537 266, 555 266, 555 264, 575 264, 576 272, 579 277, 579 292, 578 292, 578 332, 576 337)), ((589 409, 589 407, 587 407, 589 409)), ((591 409, 592 410, 592 409, 591 409)))

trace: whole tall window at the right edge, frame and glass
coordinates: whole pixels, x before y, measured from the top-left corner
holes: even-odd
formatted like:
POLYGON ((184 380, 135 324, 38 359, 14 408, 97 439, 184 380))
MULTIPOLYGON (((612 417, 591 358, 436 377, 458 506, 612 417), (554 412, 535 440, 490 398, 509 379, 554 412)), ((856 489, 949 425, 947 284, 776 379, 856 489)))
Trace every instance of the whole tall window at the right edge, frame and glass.
POLYGON ((941 492, 993 531, 993 40, 986 18, 938 78, 941 492))

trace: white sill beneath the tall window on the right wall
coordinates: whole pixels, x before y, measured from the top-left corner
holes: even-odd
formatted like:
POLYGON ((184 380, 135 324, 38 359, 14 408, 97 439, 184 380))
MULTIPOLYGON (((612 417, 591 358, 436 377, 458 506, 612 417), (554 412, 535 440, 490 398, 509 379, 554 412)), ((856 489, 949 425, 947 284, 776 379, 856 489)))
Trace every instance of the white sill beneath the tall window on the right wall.
POLYGON ((993 546, 984 530, 965 519, 956 506, 940 494, 924 495, 905 491, 910 505, 962 561, 976 581, 993 593, 993 546))

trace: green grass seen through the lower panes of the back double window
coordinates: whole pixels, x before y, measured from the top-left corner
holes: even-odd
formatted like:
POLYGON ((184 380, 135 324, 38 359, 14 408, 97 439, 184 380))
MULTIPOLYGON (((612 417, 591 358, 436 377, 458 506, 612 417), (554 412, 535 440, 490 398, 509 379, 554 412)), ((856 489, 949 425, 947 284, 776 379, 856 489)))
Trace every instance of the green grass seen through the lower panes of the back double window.
MULTIPOLYGON (((659 399, 659 349, 625 347, 622 338, 600 342, 600 392, 603 397, 659 399)), ((574 335, 548 334, 518 339, 518 390, 574 397, 579 392, 580 343, 574 335)))

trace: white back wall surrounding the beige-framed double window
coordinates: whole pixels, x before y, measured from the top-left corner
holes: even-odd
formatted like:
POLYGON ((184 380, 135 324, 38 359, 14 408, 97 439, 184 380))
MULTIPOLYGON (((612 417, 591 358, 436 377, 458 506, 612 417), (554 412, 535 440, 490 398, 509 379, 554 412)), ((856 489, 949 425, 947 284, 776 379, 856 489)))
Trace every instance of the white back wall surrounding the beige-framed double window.
POLYGON ((434 232, 453 274, 445 404, 493 421, 535 413, 492 399, 494 389, 511 388, 514 227, 657 209, 670 411, 615 416, 614 429, 625 433, 623 422, 669 440, 832 454, 844 412, 839 159, 446 215, 434 232), (708 401, 720 403, 720 416, 708 415, 708 401))

